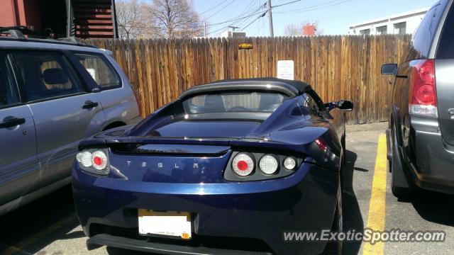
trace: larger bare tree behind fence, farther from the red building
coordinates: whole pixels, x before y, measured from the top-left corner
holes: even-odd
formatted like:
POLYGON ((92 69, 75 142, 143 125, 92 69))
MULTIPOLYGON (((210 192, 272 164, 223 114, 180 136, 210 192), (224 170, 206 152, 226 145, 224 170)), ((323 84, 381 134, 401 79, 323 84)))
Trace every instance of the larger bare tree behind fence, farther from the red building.
POLYGON ((202 35, 199 14, 190 0, 153 0, 153 14, 164 38, 202 35))

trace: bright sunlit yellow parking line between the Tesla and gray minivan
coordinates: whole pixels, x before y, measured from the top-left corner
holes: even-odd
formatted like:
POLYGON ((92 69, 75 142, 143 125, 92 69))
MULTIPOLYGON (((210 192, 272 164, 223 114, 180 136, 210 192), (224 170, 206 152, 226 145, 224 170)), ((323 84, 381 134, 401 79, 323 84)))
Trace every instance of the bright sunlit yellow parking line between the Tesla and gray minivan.
MULTIPOLYGON (((387 150, 386 136, 378 137, 377 158, 375 159, 374 179, 372 181, 372 193, 370 194, 369 215, 367 227, 374 230, 384 230, 385 205, 386 205, 386 176, 387 176, 387 150)), ((365 243, 362 254, 384 254, 384 243, 365 243)))

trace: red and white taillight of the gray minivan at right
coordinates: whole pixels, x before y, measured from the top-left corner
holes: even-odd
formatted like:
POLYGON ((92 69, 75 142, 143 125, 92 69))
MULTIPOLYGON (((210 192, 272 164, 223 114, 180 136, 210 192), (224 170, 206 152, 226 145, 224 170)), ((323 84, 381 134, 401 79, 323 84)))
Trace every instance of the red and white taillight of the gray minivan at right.
POLYGON ((409 113, 438 116, 433 60, 415 60, 410 77, 409 113))

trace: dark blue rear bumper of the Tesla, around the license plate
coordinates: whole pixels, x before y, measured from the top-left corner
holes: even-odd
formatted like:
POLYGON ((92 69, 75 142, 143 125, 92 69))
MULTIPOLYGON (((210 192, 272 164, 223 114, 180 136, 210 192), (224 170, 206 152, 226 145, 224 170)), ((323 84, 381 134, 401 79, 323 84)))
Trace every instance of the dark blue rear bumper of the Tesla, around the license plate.
POLYGON ((85 234, 92 237, 89 244, 148 251, 173 245, 165 246, 170 251, 163 254, 188 254, 193 249, 195 254, 238 254, 237 250, 320 254, 326 243, 284 242, 283 232, 331 229, 338 173, 302 164, 292 176, 272 181, 165 183, 157 188, 162 184, 96 177, 74 165, 74 203, 85 234), (141 237, 139 208, 191 212, 192 240, 141 237), (237 246, 241 240, 244 243, 237 246))

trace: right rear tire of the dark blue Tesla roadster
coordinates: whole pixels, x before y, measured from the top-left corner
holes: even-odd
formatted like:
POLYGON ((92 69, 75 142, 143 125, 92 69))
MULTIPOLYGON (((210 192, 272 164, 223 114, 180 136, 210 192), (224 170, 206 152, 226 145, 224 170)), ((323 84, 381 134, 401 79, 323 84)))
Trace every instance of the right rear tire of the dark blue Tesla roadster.
MULTIPOLYGON (((341 176, 339 176, 338 185, 338 203, 336 204, 336 212, 334 212, 333 225, 331 226, 331 232, 343 232, 343 210, 342 210, 342 183, 341 176)), ((338 240, 337 242, 328 242, 323 250, 323 255, 341 255, 343 249, 343 242, 338 240)))

